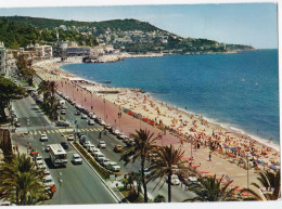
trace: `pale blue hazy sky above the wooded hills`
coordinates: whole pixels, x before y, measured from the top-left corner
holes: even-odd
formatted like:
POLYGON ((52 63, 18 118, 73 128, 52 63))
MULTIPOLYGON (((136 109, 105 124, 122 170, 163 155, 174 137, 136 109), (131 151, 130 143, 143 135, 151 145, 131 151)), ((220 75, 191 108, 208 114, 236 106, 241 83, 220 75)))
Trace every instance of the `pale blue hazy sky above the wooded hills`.
POLYGON ((74 21, 136 18, 185 38, 278 48, 275 3, 0 9, 0 16, 11 15, 74 21))

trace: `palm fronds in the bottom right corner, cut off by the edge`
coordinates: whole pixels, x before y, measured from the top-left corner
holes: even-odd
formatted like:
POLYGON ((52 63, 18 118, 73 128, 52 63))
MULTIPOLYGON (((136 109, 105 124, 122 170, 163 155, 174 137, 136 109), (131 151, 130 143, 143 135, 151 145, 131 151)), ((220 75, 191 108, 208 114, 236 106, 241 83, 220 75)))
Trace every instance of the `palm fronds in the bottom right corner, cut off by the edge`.
POLYGON ((261 191, 264 188, 266 192, 257 193, 251 188, 244 188, 242 192, 251 193, 256 200, 277 200, 281 196, 281 182, 280 182, 280 170, 278 172, 264 171, 259 172, 259 177, 257 178, 257 184, 255 182, 252 183, 257 190, 261 191))

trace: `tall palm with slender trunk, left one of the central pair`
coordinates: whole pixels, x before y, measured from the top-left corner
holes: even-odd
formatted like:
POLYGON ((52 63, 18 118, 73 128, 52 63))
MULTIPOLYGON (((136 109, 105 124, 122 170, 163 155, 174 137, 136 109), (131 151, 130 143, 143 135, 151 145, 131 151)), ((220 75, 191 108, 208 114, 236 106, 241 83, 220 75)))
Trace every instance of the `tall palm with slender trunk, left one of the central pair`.
POLYGON ((146 180, 145 180, 145 162, 149 159, 149 154, 156 147, 156 138, 153 138, 154 133, 150 133, 148 130, 140 129, 136 131, 136 134, 130 134, 130 138, 134 140, 134 144, 126 146, 123 149, 120 160, 125 161, 127 166, 130 161, 134 162, 137 159, 141 161, 141 179, 144 190, 144 203, 148 203, 148 192, 146 192, 146 180))

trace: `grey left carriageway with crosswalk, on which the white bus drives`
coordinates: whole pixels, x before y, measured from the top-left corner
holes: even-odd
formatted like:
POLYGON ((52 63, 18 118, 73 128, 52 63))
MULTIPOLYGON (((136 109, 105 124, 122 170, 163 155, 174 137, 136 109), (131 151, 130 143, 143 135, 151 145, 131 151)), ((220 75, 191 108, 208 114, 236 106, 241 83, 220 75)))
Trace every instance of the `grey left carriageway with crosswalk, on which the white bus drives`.
MULTIPOLYGON (((42 146, 44 147, 46 144, 61 143, 65 141, 65 139, 60 133, 55 133, 55 127, 48 123, 43 117, 43 114, 35 108, 36 105, 31 97, 26 97, 21 101, 13 102, 13 107, 16 112, 20 122, 22 123, 22 127, 18 128, 17 131, 26 130, 27 118, 29 118, 29 130, 36 130, 39 132, 40 130, 42 131, 43 126, 47 125, 47 131, 54 132, 48 134, 49 140, 48 142, 44 142, 44 145, 42 145, 42 143, 39 141, 39 134, 29 134, 25 136, 16 136, 16 134, 14 134, 13 140, 15 143, 26 146, 28 142, 30 142, 33 147, 39 151, 42 155, 42 146)), ((57 191, 53 198, 46 201, 46 204, 116 204, 117 200, 86 162, 81 166, 72 165, 70 157, 74 153, 76 152, 69 147, 67 151, 67 167, 57 169, 55 169, 50 162, 49 155, 43 153, 44 160, 57 186, 57 191), (59 172, 62 173, 63 179, 61 192, 57 182, 59 172)))

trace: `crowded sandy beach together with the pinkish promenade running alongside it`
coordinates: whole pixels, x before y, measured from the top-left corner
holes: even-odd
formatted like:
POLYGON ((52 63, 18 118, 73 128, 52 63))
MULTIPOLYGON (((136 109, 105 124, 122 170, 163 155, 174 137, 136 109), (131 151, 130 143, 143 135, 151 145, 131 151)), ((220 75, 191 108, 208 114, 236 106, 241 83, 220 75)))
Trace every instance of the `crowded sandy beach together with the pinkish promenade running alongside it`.
POLYGON ((201 115, 189 113, 189 107, 181 110, 138 89, 106 87, 59 68, 73 63, 81 63, 81 58, 68 58, 64 63, 59 60, 41 61, 34 67, 42 79, 56 81, 60 92, 125 134, 129 135, 140 128, 148 129, 159 136, 158 145, 181 147, 191 167, 197 167, 194 169, 200 175, 225 174, 235 185, 247 187, 247 161, 249 185, 256 182, 259 171, 270 169, 270 166, 280 168, 279 149, 211 123, 201 115), (118 117, 119 113, 121 117, 118 117))

